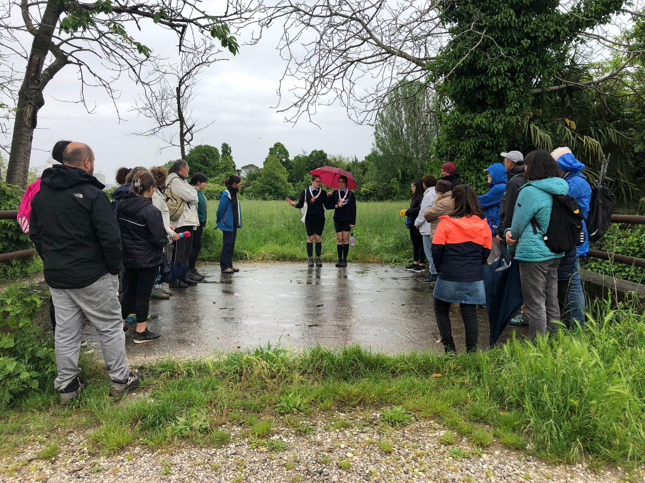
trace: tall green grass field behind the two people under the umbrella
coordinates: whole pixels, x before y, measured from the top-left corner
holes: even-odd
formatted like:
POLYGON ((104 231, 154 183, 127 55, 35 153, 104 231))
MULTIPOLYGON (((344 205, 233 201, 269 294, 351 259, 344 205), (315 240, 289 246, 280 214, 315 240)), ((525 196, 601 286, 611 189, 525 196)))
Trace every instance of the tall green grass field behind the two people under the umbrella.
MULTIPOLYGON (((306 260, 306 233, 301 212, 286 202, 241 200, 242 229, 237 232, 235 260, 301 261, 306 260)), ((412 243, 399 211, 399 203, 358 203, 356 246, 348 260, 377 263, 403 263, 412 260, 412 243)), ((213 231, 217 201, 208 202, 208 224, 204 229, 200 258, 219 260, 222 232, 213 231)), ((333 213, 326 214, 323 233, 323 260, 337 259, 333 213)))

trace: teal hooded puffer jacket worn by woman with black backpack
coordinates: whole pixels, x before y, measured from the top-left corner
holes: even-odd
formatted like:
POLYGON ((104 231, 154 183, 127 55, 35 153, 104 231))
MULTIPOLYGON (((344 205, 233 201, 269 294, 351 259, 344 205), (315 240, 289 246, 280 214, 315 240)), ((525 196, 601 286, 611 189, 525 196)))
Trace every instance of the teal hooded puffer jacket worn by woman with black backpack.
POLYGON ((542 232, 546 233, 551 218, 553 194, 567 194, 569 185, 562 178, 544 178, 532 181, 520 188, 517 205, 513 212, 513 223, 510 229, 513 240, 519 240, 514 247, 508 247, 515 260, 546 261, 561 258, 564 253, 553 253, 546 247, 542 235, 533 232, 531 218, 535 217, 542 232))

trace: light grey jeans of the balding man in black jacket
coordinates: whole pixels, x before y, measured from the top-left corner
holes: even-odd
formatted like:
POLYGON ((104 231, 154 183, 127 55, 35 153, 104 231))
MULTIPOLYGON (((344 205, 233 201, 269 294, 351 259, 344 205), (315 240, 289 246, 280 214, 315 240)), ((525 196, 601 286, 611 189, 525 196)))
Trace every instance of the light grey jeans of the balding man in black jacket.
POLYGON ((54 347, 58 377, 54 388, 62 391, 81 372, 78 362, 83 314, 96 329, 110 377, 113 381, 127 381, 130 368, 125 355, 118 276, 108 273, 83 289, 51 287, 50 292, 56 309, 54 347))

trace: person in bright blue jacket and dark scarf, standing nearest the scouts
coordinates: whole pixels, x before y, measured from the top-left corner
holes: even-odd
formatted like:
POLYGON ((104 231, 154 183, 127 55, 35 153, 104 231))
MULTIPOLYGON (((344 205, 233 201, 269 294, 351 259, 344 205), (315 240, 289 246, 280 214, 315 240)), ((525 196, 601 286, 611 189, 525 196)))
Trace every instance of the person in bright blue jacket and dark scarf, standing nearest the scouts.
POLYGON ((237 193, 242 185, 242 178, 230 175, 224 180, 226 189, 219 195, 217 206, 217 228, 222 231, 222 252, 219 256, 219 267, 224 273, 239 272, 233 267, 233 251, 237 229, 242 227, 242 207, 237 200, 237 193))

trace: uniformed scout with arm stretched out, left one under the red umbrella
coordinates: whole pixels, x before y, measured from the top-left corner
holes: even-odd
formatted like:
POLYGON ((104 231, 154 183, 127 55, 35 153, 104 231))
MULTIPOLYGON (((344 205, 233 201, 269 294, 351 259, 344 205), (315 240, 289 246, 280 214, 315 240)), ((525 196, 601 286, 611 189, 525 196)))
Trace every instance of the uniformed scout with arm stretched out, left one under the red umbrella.
POLYGON ((304 227, 307 231, 307 256, 308 265, 313 267, 313 240, 316 241, 316 266, 322 267, 321 254, 323 252, 323 236, 324 230, 324 210, 328 208, 327 192, 321 188, 321 177, 312 175, 311 186, 304 189, 300 193, 299 202, 295 203, 289 198, 286 202, 294 208, 303 209, 304 227))

